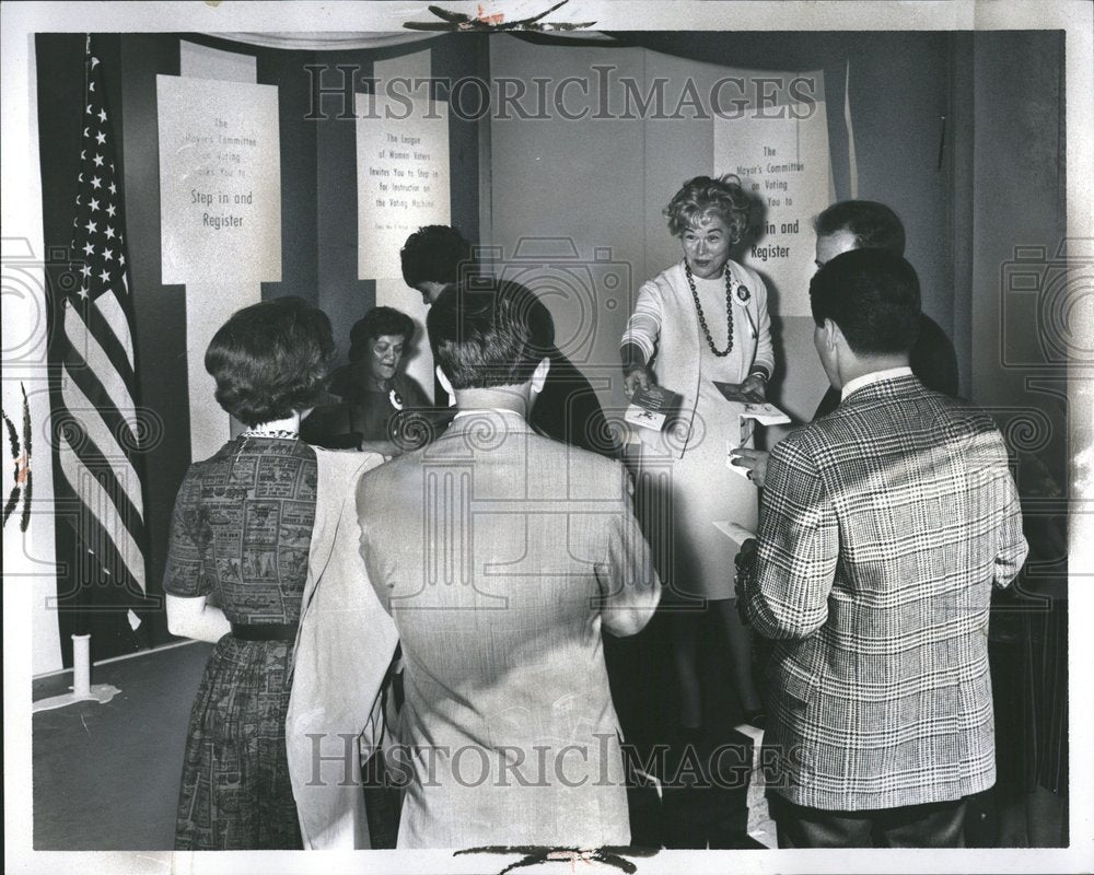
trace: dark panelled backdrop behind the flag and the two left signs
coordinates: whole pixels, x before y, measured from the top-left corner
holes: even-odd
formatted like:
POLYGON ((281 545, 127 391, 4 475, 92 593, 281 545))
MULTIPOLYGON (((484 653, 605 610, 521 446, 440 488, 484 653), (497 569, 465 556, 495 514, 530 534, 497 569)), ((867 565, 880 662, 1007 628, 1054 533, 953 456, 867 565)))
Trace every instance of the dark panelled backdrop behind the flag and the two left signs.
MULTIPOLYGON (((154 411, 160 428, 144 455, 148 588, 162 595, 167 534, 175 493, 190 464, 186 384, 186 299, 182 285, 164 285, 160 260, 160 163, 156 74, 177 75, 179 42, 246 54, 257 59, 259 84, 278 86, 281 153, 281 281, 263 283, 263 298, 298 294, 331 317, 345 354, 349 327, 375 302, 372 281, 357 279, 356 122, 309 118, 312 101, 309 65, 357 65, 369 77, 372 65, 410 51, 432 50, 433 75, 480 71, 486 38, 443 36, 383 50, 291 51, 246 46, 195 34, 107 34, 95 37, 106 65, 107 90, 121 149, 130 283, 136 320, 139 401, 154 411)), ((83 101, 83 34, 36 37, 38 133, 44 240, 56 283, 71 264, 72 205, 79 173, 83 101)), ((359 90, 359 89, 358 89, 359 90)), ((478 124, 454 119, 450 127, 451 202, 454 223, 478 240, 478 124)), ((209 404, 216 401, 210 398, 209 404)), ((74 544, 57 527, 59 592, 75 576, 74 544)), ((162 609, 148 611, 140 635, 128 630, 125 611, 94 618, 92 658, 102 660, 172 638, 162 609)), ((58 615, 62 660, 71 665, 75 615, 58 615)))

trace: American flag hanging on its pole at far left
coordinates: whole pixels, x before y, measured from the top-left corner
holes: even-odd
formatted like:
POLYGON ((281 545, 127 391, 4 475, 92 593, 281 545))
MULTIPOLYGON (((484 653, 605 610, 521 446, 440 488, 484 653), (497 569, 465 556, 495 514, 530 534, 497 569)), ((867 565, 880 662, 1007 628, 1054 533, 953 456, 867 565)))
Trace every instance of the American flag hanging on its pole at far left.
MULTIPOLYGON (((146 424, 138 418, 125 238, 125 206, 103 68, 85 52, 80 175, 72 220, 74 273, 61 283, 54 361, 58 504, 74 529, 72 600, 62 608, 126 610, 140 625, 144 582, 144 500, 140 475, 146 424), (58 406, 59 405, 59 406, 58 406), (69 494, 65 492, 69 491, 69 494)), ((85 629, 78 629, 85 631, 85 629)))

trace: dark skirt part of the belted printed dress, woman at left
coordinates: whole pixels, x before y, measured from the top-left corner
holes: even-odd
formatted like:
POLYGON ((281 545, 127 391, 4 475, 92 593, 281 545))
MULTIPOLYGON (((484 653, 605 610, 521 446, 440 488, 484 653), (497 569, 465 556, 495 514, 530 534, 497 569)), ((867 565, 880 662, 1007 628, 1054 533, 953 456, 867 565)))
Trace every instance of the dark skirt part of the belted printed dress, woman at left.
POLYGON ((217 643, 190 712, 176 850, 302 847, 284 744, 292 648, 217 643))

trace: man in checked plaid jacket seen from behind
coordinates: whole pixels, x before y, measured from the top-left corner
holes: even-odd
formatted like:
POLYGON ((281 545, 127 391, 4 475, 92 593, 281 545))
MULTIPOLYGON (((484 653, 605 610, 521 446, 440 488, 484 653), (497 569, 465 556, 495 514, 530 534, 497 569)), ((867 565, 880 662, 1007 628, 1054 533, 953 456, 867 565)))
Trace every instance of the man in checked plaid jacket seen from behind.
POLYGON ((842 399, 771 453, 743 602, 775 639, 780 848, 957 847, 996 780, 988 607, 1026 555, 991 418, 908 368, 919 281, 856 249, 810 285, 842 399))

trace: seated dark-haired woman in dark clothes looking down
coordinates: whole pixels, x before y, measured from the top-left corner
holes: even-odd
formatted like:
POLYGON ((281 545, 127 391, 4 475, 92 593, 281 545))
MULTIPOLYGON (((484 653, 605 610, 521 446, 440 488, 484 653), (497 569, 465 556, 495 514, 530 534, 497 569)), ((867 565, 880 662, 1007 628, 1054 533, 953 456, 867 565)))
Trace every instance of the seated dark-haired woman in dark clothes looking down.
POLYGON ((316 407, 301 423, 301 436, 331 450, 401 453, 406 445, 392 440, 392 420, 400 410, 432 407, 399 370, 414 330, 414 320, 393 307, 365 313, 350 330, 349 364, 330 376, 328 390, 341 402, 316 407))

